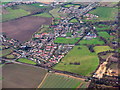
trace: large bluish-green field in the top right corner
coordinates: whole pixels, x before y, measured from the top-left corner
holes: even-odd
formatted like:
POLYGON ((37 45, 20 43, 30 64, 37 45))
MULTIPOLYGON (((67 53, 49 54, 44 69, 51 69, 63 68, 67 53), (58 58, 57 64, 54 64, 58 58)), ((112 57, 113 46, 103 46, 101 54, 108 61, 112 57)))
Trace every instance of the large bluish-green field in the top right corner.
POLYGON ((118 15, 118 9, 113 7, 97 7, 89 13, 99 16, 97 20, 100 21, 115 20, 115 17, 118 15))

